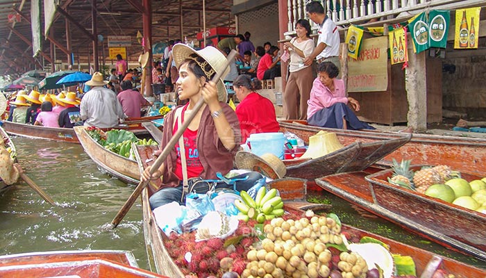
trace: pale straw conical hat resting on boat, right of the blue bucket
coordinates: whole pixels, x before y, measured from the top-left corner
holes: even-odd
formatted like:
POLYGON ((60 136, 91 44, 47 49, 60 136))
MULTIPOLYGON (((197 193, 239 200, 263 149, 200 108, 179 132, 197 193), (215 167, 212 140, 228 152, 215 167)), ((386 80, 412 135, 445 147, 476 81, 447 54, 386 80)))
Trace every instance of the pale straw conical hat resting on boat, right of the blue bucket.
POLYGON ((342 148, 344 146, 337 140, 336 133, 319 131, 309 137, 309 147, 301 158, 318 158, 342 148))

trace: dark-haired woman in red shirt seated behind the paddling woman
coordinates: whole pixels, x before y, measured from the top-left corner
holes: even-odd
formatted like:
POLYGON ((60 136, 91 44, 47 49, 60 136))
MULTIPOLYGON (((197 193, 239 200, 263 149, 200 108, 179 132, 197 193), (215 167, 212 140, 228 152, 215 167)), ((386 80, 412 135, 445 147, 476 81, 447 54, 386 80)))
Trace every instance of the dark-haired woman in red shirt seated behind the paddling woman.
POLYGON ((242 142, 252 133, 278 132, 274 104, 266 97, 255 92, 262 88, 262 82, 242 74, 233 81, 233 89, 240 104, 236 106, 236 115, 240 120, 242 142))

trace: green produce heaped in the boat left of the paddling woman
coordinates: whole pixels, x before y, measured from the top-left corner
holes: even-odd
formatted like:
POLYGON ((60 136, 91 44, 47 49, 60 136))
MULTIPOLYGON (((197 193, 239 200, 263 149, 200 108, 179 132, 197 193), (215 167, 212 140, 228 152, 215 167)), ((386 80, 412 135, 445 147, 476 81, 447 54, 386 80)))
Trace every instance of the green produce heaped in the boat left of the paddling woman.
POLYGON ((111 129, 104 132, 101 129, 89 127, 87 133, 108 151, 126 158, 133 158, 132 142, 137 145, 158 145, 152 138, 149 140, 139 139, 133 132, 124 129, 111 129))

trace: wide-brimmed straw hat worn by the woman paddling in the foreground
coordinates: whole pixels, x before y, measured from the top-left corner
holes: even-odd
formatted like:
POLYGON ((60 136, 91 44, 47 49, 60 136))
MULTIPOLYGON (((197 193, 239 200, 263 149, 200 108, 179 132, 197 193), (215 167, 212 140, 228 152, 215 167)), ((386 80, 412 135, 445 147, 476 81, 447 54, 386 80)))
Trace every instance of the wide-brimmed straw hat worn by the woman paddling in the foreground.
MULTIPOLYGON (((190 58, 193 54, 203 58, 209 65, 212 67, 212 70, 215 72, 220 72, 224 63, 226 63, 226 57, 215 47, 205 47, 201 50, 194 50, 192 47, 188 47, 185 44, 176 44, 172 48, 172 56, 174 57, 174 62, 176 63, 176 67, 181 67, 181 64, 184 62, 185 59, 190 58)), ((226 88, 224 87, 223 79, 228 73, 230 72, 229 67, 224 69, 221 78, 216 83, 216 88, 218 91, 218 100, 226 102, 228 101, 228 92, 226 92, 226 88)), ((209 81, 209 80, 208 80, 209 81)))

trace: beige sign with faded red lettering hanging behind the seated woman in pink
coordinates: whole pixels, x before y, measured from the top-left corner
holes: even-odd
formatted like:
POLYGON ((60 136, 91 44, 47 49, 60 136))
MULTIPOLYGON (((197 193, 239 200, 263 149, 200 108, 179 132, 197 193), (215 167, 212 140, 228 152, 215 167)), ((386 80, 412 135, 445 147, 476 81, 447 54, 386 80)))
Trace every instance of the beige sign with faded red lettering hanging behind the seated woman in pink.
POLYGON ((386 91, 388 63, 386 37, 368 38, 361 42, 357 60, 348 58, 348 92, 386 91), (373 69, 373 70, 370 70, 373 69))

